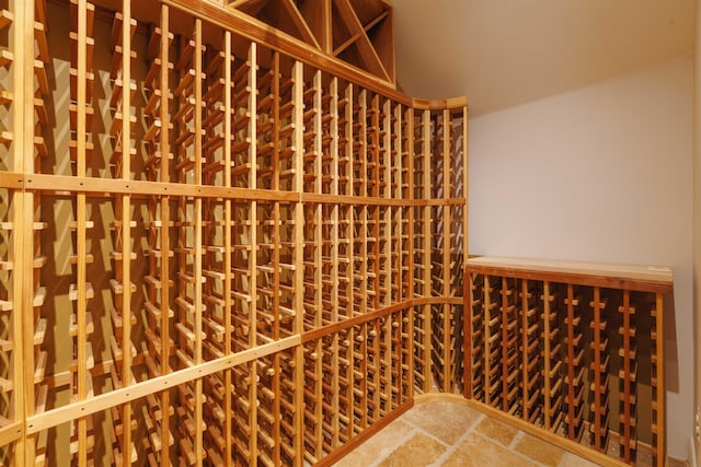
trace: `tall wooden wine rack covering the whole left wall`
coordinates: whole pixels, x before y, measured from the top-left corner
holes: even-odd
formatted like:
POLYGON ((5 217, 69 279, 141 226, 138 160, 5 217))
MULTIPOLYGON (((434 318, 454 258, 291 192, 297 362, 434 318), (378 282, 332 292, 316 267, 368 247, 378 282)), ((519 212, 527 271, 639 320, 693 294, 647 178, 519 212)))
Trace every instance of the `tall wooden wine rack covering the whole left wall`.
POLYGON ((467 125, 228 3, 0 0, 0 466, 330 465, 461 393, 467 125))

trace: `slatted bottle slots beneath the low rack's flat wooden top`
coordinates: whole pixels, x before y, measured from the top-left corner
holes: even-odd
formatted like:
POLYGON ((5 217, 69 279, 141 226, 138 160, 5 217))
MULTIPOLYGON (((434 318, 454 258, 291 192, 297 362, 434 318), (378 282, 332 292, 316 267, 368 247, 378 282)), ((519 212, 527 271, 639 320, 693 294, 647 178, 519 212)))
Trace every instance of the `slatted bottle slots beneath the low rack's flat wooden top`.
MULTIPOLYGON (((621 459, 634 462, 641 338, 651 347, 643 359, 650 359, 652 376, 643 384, 652 386, 654 420, 660 398, 654 377, 659 295, 481 273, 472 275, 470 288, 470 397, 604 453, 617 432, 621 459), (651 332, 641 336, 641 326, 651 332), (614 392, 618 407, 610 404, 614 392)), ((653 439, 642 445, 656 455, 656 422, 651 430, 653 439)))

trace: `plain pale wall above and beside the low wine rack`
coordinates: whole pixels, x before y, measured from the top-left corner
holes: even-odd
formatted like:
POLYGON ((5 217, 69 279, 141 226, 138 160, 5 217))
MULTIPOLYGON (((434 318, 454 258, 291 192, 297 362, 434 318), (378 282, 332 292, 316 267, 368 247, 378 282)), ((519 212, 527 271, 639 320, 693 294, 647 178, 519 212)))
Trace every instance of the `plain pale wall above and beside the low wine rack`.
POLYGON ((692 100, 689 56, 470 122, 471 254, 674 268, 665 345, 677 458, 693 407, 692 100))

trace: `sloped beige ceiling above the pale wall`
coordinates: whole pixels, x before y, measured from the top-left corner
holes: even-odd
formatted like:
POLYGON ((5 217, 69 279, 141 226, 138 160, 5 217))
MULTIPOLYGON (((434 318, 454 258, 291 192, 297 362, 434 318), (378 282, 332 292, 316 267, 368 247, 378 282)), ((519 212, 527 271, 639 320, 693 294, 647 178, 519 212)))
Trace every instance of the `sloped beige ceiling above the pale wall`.
POLYGON ((397 77, 472 115, 693 51, 694 0, 394 0, 397 77))

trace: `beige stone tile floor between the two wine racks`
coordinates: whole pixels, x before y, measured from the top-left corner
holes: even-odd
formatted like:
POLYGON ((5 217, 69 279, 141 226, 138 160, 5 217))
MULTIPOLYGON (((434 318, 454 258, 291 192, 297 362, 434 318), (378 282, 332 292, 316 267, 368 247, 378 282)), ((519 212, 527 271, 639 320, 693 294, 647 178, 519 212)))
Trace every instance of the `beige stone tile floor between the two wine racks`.
POLYGON ((335 466, 593 467, 596 464, 464 405, 422 401, 335 466))

